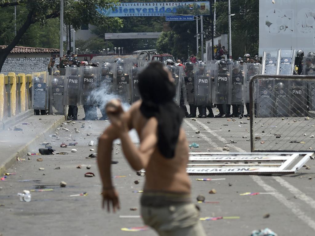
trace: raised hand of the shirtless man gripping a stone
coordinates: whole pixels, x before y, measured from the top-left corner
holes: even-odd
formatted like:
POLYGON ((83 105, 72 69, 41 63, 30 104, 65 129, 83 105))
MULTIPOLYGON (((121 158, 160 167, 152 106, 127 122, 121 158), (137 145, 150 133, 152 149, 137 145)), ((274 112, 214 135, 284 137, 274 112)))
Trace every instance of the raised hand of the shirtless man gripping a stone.
POLYGON ((127 124, 123 121, 124 111, 119 99, 109 101, 106 104, 105 110, 112 125, 117 128, 118 132, 128 131, 127 124))

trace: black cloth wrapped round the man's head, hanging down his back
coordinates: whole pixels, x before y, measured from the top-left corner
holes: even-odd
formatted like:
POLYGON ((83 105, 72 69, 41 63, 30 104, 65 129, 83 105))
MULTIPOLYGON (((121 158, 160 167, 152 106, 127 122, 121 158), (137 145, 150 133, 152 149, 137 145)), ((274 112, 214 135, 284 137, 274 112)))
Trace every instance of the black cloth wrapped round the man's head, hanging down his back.
POLYGON ((173 158, 178 141, 182 111, 173 98, 175 83, 169 80, 169 73, 162 63, 152 62, 138 77, 142 98, 141 113, 146 117, 156 117, 158 122, 158 148, 166 158, 173 158))

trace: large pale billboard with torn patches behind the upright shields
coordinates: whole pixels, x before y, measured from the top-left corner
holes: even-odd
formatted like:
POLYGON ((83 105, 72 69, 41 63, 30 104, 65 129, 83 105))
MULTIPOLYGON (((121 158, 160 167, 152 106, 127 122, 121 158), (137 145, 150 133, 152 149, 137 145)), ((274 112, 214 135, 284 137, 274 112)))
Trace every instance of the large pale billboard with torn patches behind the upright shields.
POLYGON ((315 48, 315 9, 310 1, 259 1, 259 56, 263 52, 315 48))

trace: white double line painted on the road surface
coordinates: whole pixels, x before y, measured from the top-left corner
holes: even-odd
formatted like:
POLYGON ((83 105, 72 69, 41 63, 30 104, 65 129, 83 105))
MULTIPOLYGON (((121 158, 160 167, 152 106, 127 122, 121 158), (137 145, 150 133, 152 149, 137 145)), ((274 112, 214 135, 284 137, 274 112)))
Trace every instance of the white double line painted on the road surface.
MULTIPOLYGON (((190 126, 192 129, 196 129, 196 127, 194 125, 192 125, 190 122, 186 121, 186 124, 188 124, 188 126, 190 126)), ((227 143, 226 139, 221 137, 220 135, 218 135, 217 133, 215 133, 214 131, 212 131, 208 126, 206 126, 205 124, 203 124, 200 121, 196 121, 199 125, 201 125, 207 132, 209 132, 210 134, 212 134, 215 138, 217 138, 218 140, 220 140, 223 143, 227 143)), ((206 137, 204 134, 200 133, 199 134, 201 137, 203 137, 206 141, 208 141, 208 143, 213 146, 213 147, 218 147, 217 144, 213 143, 213 141, 206 137)), ((238 150, 239 152, 245 152, 245 150, 236 147, 235 145, 233 145, 232 143, 228 143, 226 144, 227 146, 234 148, 236 150, 238 150)), ((287 208, 289 208, 298 218, 300 218, 302 221, 304 221, 309 227, 311 227, 313 230, 315 230, 315 221, 312 220, 312 218, 306 216, 305 212, 301 211, 300 208, 298 208, 293 202, 288 201, 284 195, 282 195, 281 193, 279 193, 275 188, 272 188, 270 185, 267 185, 259 176, 254 176, 251 175, 250 176, 259 186, 261 186, 263 189, 265 189, 267 192, 273 192, 274 194, 272 194, 272 196, 274 196, 275 198, 277 198, 282 204, 284 204, 287 208)), ((286 181, 284 181, 282 178, 280 177, 274 177, 279 183, 281 182, 281 184, 288 188, 289 191, 294 192, 295 195, 299 195, 300 199, 302 199, 303 201, 305 201, 308 205, 310 205, 311 207, 315 208, 315 201, 306 196, 303 192, 301 192, 300 190, 298 190, 297 188, 295 188, 294 186, 290 185, 289 183, 287 183, 286 181)), ((291 193, 292 193, 291 192, 291 193)))

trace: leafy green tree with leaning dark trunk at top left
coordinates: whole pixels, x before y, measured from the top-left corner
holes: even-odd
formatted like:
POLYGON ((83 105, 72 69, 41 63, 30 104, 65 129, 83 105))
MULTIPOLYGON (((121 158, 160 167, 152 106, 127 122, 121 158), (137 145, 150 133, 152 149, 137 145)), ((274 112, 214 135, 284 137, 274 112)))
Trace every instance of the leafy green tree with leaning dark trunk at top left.
MULTIPOLYGON (((64 22, 67 25, 72 25, 74 29, 79 29, 83 23, 90 23, 96 26, 110 25, 111 27, 119 28, 122 26, 122 20, 116 17, 106 17, 97 10, 99 7, 112 8, 115 3, 117 4, 118 0, 64 0, 64 22)), ((22 23, 17 28, 16 36, 12 40, 10 40, 10 34, 12 33, 5 36, 7 38, 5 38, 4 42, 8 46, 0 49, 0 71, 10 51, 20 42, 31 25, 38 23, 40 27, 43 27, 50 20, 60 17, 60 1, 58 0, 0 0, 0 10, 1 12, 6 10, 9 19, 8 23, 4 24, 5 28, 0 30, 1 35, 5 32, 3 31, 5 29, 12 31, 14 6, 21 6, 21 9, 24 9, 23 14, 20 13, 22 23)), ((54 31, 52 33, 56 34, 54 31)), ((40 35, 38 36, 40 37, 40 35)))

